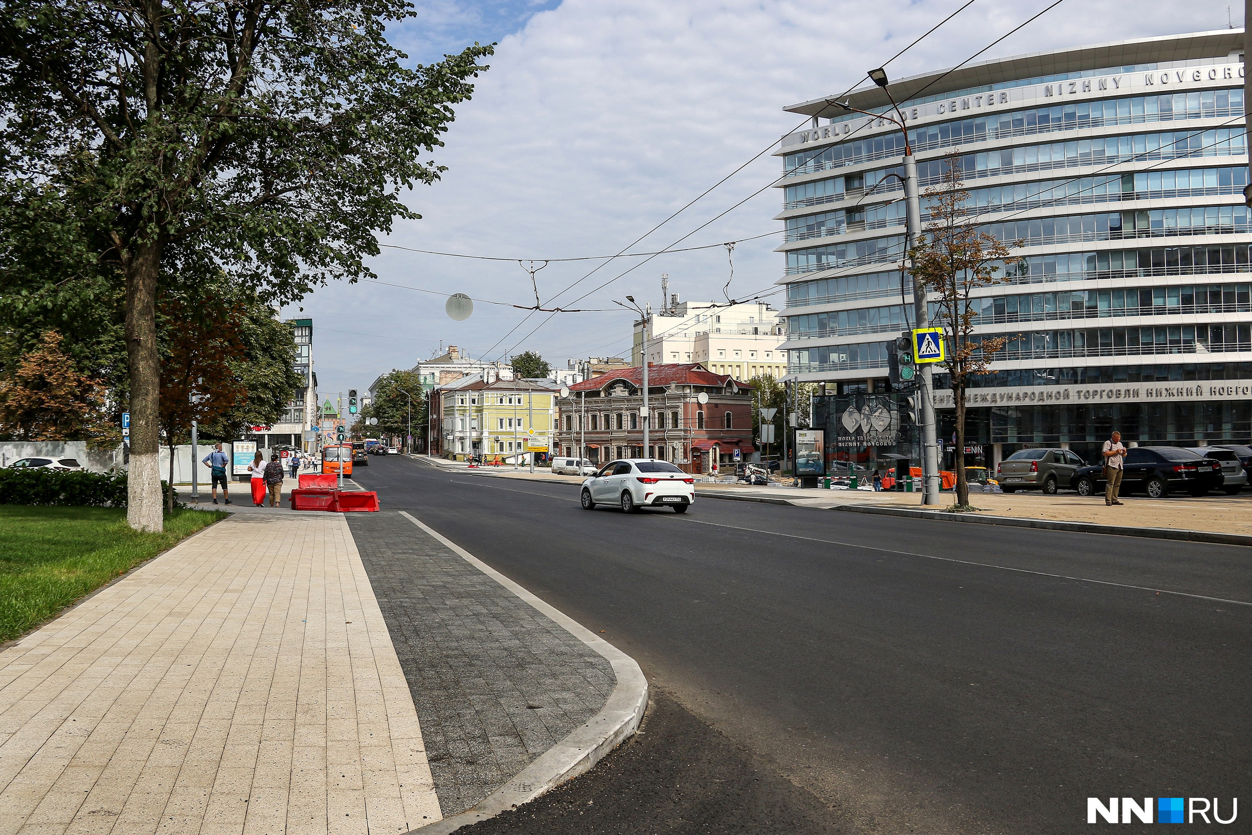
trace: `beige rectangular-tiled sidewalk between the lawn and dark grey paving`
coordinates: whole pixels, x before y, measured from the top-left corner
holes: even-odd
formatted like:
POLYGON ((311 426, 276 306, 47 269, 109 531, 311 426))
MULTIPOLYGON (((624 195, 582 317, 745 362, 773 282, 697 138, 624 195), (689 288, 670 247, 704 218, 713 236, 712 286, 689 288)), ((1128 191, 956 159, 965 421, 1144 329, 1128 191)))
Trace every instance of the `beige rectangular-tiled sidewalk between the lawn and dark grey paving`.
POLYGON ((439 817, 342 517, 233 516, 0 652, 0 834, 439 817))

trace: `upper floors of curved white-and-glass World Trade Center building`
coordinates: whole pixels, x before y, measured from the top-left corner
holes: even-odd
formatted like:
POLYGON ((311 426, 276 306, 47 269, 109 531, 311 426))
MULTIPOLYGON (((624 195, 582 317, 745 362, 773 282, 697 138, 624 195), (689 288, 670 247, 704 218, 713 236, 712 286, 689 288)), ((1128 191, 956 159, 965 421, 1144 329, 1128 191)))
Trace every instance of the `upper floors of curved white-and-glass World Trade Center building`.
MULTIPOLYGON (((1247 443, 1243 31, 987 61, 909 98, 943 74, 891 81, 920 188, 958 154, 978 224, 1024 243, 1010 280, 975 293, 977 337, 1008 344, 970 383, 967 444, 994 467, 1023 446, 1085 458, 1112 428, 1146 444, 1247 443)), ((894 114, 878 88, 850 105, 894 114)), ((886 343, 913 314, 903 187, 889 177, 904 173, 904 138, 824 99, 786 110, 813 116, 777 151, 789 377, 830 394, 888 391, 886 343)), ((945 439, 952 394, 935 381, 945 439)))

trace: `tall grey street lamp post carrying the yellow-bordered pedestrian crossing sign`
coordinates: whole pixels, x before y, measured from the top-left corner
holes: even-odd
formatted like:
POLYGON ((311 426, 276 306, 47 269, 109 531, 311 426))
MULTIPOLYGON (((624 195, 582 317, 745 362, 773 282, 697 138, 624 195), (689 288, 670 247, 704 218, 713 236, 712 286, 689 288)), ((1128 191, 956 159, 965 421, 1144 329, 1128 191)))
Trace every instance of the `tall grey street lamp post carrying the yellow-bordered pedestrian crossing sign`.
MULTIPOLYGON (((909 130, 904 124, 904 114, 900 113, 900 105, 895 103, 895 96, 891 95, 891 91, 886 86, 886 73, 883 69, 870 70, 869 78, 874 81, 874 84, 883 88, 884 93, 886 93, 886 98, 891 103, 891 108, 895 110, 895 115, 898 116, 896 119, 879 113, 869 113, 868 110, 853 108, 846 101, 829 101, 829 104, 843 110, 861 113, 874 119, 886 119, 899 126, 900 133, 904 135, 904 177, 901 179, 904 180, 905 258, 908 258, 909 248, 921 234, 921 204, 918 198, 918 164, 913 159, 913 148, 909 145, 909 130)), ((916 275, 913 275, 913 318, 915 328, 925 328, 930 319, 929 310, 926 310, 926 290, 916 275)), ((921 401, 921 413, 918 416, 921 423, 921 503, 938 505, 939 444, 935 432, 935 409, 933 396, 934 368, 930 363, 925 363, 921 367, 918 391, 921 394, 919 398, 921 401)))

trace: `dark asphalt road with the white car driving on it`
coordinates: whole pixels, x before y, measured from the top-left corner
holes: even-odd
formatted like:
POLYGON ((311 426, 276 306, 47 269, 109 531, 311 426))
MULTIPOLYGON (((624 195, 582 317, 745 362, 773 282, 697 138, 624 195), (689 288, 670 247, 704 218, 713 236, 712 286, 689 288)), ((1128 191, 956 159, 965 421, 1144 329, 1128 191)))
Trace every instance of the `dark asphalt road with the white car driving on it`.
MULTIPOLYGON (((1074 832, 1088 796, 1248 796, 1248 548, 719 499, 587 512, 572 487, 408 458, 357 481, 603 630, 684 729, 669 771, 655 746, 612 766, 635 811, 618 796, 592 826, 580 800, 558 827, 557 797, 498 831, 731 831, 701 804, 767 812, 760 780, 790 832, 1074 832), (687 767, 701 732, 739 754, 687 767), (760 779, 714 776, 736 756, 760 779), (662 790, 680 766, 687 814, 662 790)), ((1222 831, 1252 831, 1241 811, 1222 831)))

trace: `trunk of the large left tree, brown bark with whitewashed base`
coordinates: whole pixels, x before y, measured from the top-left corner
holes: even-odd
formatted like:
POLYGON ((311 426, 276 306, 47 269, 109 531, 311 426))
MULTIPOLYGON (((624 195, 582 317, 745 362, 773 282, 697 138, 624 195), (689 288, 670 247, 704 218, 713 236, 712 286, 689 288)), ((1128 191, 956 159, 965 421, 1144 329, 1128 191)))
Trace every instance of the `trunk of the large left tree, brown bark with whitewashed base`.
POLYGON ((130 366, 130 472, 126 523, 163 530, 160 494, 160 361, 156 353, 156 277, 160 243, 139 244, 126 264, 126 358, 130 366))

